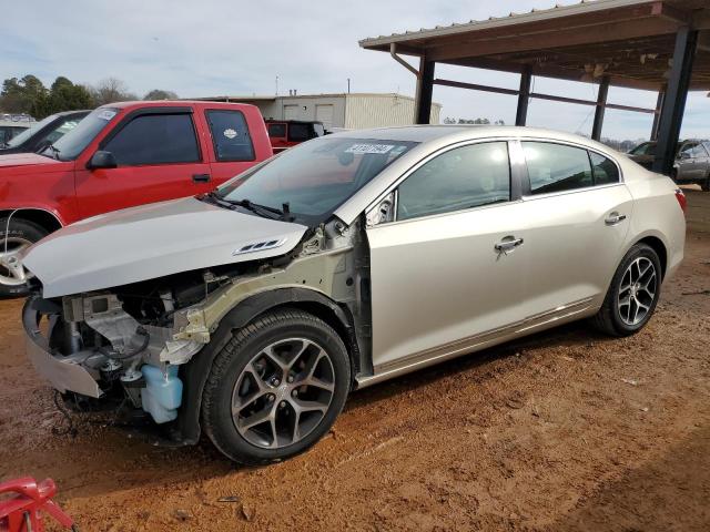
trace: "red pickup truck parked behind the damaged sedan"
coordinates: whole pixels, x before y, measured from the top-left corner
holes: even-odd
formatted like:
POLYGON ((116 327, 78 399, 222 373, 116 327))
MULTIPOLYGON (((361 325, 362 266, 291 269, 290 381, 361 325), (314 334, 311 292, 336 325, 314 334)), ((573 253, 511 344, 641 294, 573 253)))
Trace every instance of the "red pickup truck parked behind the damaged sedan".
POLYGON ((257 108, 189 101, 108 104, 41 153, 0 155, 0 296, 24 291, 17 255, 49 233, 209 192, 272 155, 257 108))

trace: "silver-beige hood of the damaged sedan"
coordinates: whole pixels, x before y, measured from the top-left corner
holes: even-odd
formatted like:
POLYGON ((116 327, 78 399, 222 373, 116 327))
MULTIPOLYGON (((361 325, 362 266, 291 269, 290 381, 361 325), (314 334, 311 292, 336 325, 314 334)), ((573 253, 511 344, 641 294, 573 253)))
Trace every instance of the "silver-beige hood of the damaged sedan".
POLYGON ((222 208, 187 197, 95 216, 30 247, 22 263, 44 297, 275 257, 307 227, 222 208))

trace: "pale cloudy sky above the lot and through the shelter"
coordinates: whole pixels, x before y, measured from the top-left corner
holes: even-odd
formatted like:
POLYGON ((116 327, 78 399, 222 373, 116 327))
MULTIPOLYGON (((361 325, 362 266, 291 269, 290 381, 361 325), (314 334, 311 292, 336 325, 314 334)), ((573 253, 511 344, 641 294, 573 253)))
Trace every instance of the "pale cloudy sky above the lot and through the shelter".
MULTIPOLYGON (((144 94, 168 89, 180 96, 344 92, 414 94, 414 76, 386 53, 362 50, 366 37, 549 8, 556 0, 3 0, 0 79, 57 75, 94 83, 123 80, 144 94)), ((569 0, 557 3, 574 3, 569 0)), ((518 76, 440 65, 437 76, 516 88, 518 76)), ((595 99, 589 83, 536 79, 535 90, 595 99)), ((515 121, 515 98, 436 86, 442 117, 515 121)), ((611 89, 609 101, 652 108, 656 94, 611 89)), ((530 125, 591 132, 592 108, 534 100, 530 125)), ((693 93, 683 136, 710 136, 710 99, 693 93)), ((607 111, 605 136, 640 139, 651 115, 607 111)))

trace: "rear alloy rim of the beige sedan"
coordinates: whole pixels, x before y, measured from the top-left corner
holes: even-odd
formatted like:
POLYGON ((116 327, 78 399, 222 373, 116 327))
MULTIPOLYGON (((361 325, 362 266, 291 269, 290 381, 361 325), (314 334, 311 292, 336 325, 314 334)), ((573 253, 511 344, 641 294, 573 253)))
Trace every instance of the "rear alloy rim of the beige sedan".
POLYGON ((656 266, 647 257, 633 260, 621 277, 617 308, 628 326, 643 321, 651 311, 658 291, 656 266))

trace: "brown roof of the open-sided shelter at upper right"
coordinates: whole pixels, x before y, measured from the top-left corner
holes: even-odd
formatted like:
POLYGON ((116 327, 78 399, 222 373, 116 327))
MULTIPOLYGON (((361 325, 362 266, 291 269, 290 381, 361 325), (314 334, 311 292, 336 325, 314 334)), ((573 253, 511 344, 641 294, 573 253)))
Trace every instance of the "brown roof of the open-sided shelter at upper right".
MULTIPOLYGON (((621 86, 666 83, 674 34, 710 29, 710 0, 597 0, 365 39, 368 50, 580 81, 609 75, 621 86)), ((710 89, 710 38, 701 32, 691 89, 710 89)))

